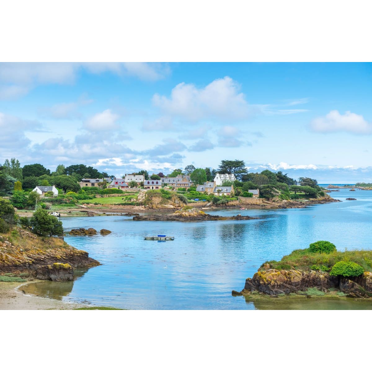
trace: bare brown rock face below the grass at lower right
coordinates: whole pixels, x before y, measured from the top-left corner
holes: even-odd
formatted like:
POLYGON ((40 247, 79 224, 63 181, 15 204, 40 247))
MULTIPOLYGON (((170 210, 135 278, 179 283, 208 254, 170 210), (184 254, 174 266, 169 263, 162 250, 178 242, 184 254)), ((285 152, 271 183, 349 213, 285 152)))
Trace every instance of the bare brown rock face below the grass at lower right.
POLYGON ((241 294, 259 292, 270 296, 288 295, 298 291, 307 291, 308 288, 317 288, 321 291, 339 288, 341 292, 347 293, 350 297, 372 297, 372 273, 365 272, 357 277, 344 278, 315 270, 269 269, 258 271, 253 278, 246 279, 241 294))

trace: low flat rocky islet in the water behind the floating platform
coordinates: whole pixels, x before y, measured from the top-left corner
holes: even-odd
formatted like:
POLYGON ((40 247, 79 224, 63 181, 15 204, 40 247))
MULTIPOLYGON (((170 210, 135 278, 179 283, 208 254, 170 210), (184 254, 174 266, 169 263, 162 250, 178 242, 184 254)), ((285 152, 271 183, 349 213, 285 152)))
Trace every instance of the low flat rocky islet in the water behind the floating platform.
POLYGON ((221 221, 221 220, 243 220, 256 219, 255 217, 242 216, 238 214, 232 217, 222 217, 217 215, 210 215, 199 209, 193 208, 188 211, 176 211, 172 214, 135 216, 133 221, 221 221))

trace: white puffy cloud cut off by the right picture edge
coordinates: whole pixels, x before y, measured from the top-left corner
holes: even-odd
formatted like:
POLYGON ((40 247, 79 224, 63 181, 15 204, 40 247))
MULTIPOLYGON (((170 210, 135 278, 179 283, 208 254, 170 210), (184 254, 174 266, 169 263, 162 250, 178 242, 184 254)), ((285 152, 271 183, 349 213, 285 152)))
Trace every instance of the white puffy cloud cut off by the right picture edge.
POLYGON ((337 110, 330 111, 327 115, 315 118, 310 128, 315 132, 348 132, 352 134, 371 134, 372 125, 362 115, 346 111, 341 115, 337 110))

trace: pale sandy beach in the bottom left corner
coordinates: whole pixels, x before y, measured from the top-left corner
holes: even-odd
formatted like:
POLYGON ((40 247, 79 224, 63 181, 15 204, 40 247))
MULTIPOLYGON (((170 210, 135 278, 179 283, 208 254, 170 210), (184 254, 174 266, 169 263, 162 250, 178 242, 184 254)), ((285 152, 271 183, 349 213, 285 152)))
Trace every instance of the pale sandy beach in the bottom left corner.
POLYGON ((22 293, 22 285, 27 283, 0 282, 0 310, 73 310, 82 304, 43 298, 22 293))

